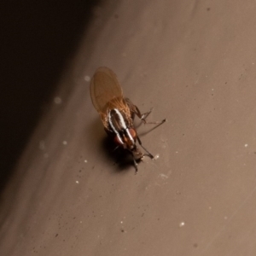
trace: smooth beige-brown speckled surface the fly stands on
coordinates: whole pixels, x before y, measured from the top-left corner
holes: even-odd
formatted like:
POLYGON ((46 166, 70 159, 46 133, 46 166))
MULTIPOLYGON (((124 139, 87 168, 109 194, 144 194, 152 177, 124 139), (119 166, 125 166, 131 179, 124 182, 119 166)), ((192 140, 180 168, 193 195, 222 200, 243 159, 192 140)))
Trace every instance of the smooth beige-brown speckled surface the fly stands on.
MULTIPOLYGON (((1 255, 256 255, 256 3, 106 1, 3 191, 1 255), (135 175, 90 101, 113 69, 142 112, 135 175)), ((138 123, 138 121, 137 121, 138 123)))

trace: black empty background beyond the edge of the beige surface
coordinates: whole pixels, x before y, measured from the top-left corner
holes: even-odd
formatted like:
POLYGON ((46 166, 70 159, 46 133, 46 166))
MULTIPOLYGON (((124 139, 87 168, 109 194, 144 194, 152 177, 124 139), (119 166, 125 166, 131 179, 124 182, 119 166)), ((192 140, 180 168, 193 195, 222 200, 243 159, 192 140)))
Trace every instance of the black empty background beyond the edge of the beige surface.
POLYGON ((2 2, 0 193, 98 2, 2 2))

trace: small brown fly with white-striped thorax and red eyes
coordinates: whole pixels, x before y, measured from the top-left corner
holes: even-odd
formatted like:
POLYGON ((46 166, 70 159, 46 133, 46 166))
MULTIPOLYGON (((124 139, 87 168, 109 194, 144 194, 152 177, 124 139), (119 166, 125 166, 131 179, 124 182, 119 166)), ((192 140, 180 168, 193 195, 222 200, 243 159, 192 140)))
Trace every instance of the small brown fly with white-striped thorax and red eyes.
MULTIPOLYGON (((144 155, 151 159, 154 156, 143 147, 134 128, 133 120, 137 115, 143 123, 148 123, 146 118, 151 110, 142 114, 136 105, 125 98, 117 76, 108 67, 96 69, 96 73, 90 81, 90 97, 96 111, 100 114, 108 136, 113 138, 117 147, 124 148, 131 154, 137 173, 137 161, 142 160, 144 155), (146 154, 143 154, 137 148, 137 142, 146 154)), ((166 119, 163 119, 161 122, 151 122, 151 124, 157 124, 158 126, 165 121, 166 119)))

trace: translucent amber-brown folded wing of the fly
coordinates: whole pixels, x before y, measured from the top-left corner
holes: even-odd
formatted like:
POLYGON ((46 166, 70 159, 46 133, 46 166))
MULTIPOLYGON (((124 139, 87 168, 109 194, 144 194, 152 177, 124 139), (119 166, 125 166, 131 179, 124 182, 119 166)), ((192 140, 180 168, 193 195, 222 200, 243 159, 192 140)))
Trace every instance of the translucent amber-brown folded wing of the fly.
POLYGON ((99 67, 90 81, 90 98, 97 112, 102 112, 114 98, 123 98, 123 91, 117 76, 108 67, 99 67))

